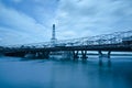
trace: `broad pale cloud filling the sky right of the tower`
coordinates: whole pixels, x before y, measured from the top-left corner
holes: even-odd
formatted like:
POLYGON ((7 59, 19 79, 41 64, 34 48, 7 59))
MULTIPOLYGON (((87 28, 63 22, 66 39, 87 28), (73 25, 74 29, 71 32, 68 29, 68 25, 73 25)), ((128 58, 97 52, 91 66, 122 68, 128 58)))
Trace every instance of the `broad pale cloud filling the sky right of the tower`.
POLYGON ((62 0, 56 21, 58 37, 70 38, 131 30, 131 0, 62 0), (72 31, 73 35, 68 35, 72 31), (64 35, 62 35, 62 33, 64 35))

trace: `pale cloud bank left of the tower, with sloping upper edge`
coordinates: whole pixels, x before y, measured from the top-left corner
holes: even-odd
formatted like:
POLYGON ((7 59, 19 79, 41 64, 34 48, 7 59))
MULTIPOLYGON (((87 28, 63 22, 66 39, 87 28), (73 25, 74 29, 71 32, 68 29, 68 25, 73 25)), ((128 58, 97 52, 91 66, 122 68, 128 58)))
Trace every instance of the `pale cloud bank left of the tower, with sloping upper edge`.
POLYGON ((36 43, 47 41, 50 33, 43 24, 15 10, 0 6, 0 38, 2 44, 36 43))

